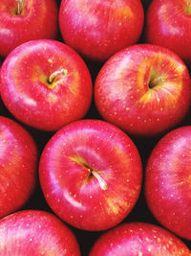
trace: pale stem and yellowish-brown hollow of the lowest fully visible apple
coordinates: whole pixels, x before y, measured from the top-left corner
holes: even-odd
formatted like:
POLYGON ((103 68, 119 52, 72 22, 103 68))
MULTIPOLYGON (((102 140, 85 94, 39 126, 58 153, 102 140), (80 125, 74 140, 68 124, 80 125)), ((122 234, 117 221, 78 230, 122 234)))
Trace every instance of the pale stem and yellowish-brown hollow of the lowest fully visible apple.
POLYGON ((92 175, 95 176, 102 190, 107 190, 107 183, 105 182, 105 180, 101 177, 101 175, 98 174, 96 170, 90 168, 89 165, 86 163, 86 161, 82 157, 74 156, 74 157, 70 157, 70 159, 73 160, 76 164, 88 170, 88 172, 90 172, 89 177, 92 175))

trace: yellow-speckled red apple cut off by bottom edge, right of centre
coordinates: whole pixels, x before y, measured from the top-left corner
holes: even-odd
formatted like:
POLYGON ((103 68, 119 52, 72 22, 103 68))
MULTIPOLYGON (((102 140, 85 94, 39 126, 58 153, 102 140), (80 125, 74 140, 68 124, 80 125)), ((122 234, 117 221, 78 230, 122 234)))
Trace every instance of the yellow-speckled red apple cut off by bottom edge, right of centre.
POLYGON ((158 225, 145 222, 123 223, 105 232, 90 256, 190 256, 179 238, 158 225))

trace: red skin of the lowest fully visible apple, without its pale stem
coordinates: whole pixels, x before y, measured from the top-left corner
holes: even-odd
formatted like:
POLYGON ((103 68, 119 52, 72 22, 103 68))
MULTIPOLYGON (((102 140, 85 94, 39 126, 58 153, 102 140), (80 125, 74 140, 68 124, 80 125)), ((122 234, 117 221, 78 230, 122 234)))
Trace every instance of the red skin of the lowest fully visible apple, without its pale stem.
POLYGON ((137 202, 141 177, 133 141, 100 120, 76 121, 57 131, 39 163, 42 191, 53 212, 83 230, 104 230, 124 220, 137 202))

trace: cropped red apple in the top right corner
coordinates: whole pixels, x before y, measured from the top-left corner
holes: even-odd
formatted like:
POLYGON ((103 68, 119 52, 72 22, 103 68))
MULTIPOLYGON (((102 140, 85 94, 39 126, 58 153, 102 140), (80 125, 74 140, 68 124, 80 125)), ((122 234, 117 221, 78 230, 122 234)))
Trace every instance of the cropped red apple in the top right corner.
POLYGON ((144 41, 169 48, 191 63, 191 3, 154 0, 146 12, 144 41))

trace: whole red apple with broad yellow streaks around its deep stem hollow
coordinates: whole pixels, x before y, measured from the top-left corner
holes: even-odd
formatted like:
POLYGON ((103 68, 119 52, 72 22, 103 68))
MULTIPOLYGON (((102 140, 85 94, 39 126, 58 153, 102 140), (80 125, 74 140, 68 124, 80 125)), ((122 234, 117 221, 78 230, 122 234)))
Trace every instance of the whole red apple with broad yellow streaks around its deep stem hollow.
POLYGON ((137 44, 108 59, 96 77, 96 107, 106 121, 137 136, 179 124, 191 100, 189 72, 170 50, 137 44))

